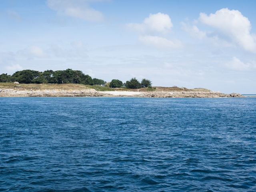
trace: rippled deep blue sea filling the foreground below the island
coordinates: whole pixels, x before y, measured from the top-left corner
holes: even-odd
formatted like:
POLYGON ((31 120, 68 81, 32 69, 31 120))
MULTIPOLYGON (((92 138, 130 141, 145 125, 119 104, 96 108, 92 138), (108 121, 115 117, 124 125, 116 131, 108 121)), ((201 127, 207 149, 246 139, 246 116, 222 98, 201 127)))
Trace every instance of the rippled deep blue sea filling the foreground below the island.
POLYGON ((256 98, 0 98, 0 191, 256 191, 256 98))

